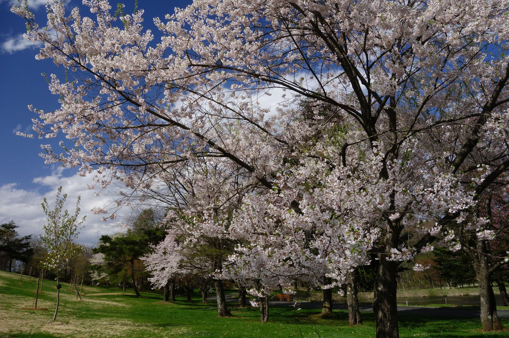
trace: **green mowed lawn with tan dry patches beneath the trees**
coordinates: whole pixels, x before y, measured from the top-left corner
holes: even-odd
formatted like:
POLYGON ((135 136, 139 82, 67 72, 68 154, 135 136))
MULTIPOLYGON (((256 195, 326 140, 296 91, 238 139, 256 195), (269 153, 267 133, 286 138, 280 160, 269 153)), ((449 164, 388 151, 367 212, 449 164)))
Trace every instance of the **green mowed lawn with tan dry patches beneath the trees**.
MULTIPOLYGON (((83 287, 82 300, 63 283, 56 321, 56 283, 44 281, 38 308, 33 308, 36 279, 0 272, 0 337, 375 337, 373 314, 363 313, 364 325, 348 326, 348 313, 321 319, 320 309, 269 309, 269 323, 260 323, 258 309, 231 306, 233 316, 219 318, 214 302, 199 295, 165 302, 157 293, 135 297, 116 288, 83 287)), ((399 317, 401 337, 506 338, 509 330, 483 332, 478 319, 399 317)), ((503 321, 509 326, 509 320, 503 321)))

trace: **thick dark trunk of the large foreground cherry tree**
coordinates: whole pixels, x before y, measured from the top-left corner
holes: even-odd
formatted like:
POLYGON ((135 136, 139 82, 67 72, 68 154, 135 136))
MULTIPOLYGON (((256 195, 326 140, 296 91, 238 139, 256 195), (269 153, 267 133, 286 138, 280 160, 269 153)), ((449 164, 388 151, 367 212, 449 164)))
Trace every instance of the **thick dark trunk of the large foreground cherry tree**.
POLYGON ((396 303, 397 264, 379 254, 378 275, 375 281, 373 312, 377 326, 377 338, 399 338, 398 306, 396 303))

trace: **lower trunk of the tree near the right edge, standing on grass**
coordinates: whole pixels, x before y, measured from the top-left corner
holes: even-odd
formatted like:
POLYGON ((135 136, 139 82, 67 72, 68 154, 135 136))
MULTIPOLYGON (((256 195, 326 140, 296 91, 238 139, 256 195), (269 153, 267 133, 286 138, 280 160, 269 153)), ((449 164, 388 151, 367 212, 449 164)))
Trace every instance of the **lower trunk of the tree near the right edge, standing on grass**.
MULTIPOLYGON (((482 268, 481 272, 483 270, 482 268)), ((480 289, 480 322, 483 325, 483 330, 501 330, 503 326, 498 319, 495 294, 491 287, 490 276, 489 274, 484 274, 477 279, 480 289)))

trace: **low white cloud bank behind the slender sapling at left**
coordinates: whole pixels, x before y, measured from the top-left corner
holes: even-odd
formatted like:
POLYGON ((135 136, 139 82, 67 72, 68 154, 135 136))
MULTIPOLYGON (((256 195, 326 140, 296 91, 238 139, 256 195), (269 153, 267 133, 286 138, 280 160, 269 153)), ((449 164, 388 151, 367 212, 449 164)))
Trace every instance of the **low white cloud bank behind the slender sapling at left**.
MULTIPOLYGON (((37 190, 25 190, 18 188, 17 184, 6 184, 0 186, 0 196, 2 203, 0 204, 0 222, 7 223, 13 220, 19 227, 18 233, 22 236, 32 234, 33 237, 38 236, 43 231, 45 217, 41 203, 46 197, 50 207, 54 206, 56 198, 56 190, 62 186, 62 193, 67 194, 65 209, 71 213, 74 212, 78 195, 81 196, 79 207, 81 208, 80 216, 87 216, 84 227, 81 229, 78 243, 94 246, 103 234, 113 234, 122 231, 122 221, 127 218, 131 210, 120 210, 121 215, 118 216, 119 221, 102 221, 105 215, 94 215, 92 209, 94 207, 105 207, 114 204, 117 197, 116 191, 109 191, 109 195, 101 194, 95 196, 95 191, 87 189, 87 184, 91 183, 91 177, 81 177, 73 175, 64 177, 63 170, 56 170, 52 175, 39 177, 34 179, 41 188, 49 188, 47 193, 41 194, 37 190)), ((41 190, 43 190, 41 189, 41 190)), ((115 187, 112 187, 114 190, 115 187)), ((106 215, 107 216, 107 215, 106 215)))

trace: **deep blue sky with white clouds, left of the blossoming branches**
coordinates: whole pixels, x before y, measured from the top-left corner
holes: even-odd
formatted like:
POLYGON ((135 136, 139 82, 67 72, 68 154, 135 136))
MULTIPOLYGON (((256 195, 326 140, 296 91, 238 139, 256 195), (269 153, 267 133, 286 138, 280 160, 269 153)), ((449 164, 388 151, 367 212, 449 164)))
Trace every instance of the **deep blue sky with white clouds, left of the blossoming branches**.
MULTIPOLYGON (((111 2, 113 8, 120 2, 111 2)), ((35 117, 27 106, 37 109, 54 110, 58 108, 58 97, 48 91, 46 80, 41 73, 58 73, 51 60, 36 60, 37 48, 22 40, 25 31, 24 19, 11 13, 10 8, 17 0, 0 0, 0 222, 13 220, 19 226, 21 235, 38 235, 44 224, 41 202, 44 196, 54 200, 56 189, 62 185, 68 194, 69 209, 78 195, 81 196, 81 210, 87 215, 85 227, 78 242, 93 246, 102 234, 121 230, 130 210, 118 217, 115 223, 105 223, 104 215, 93 215, 93 207, 104 207, 115 198, 115 187, 111 191, 94 196, 94 191, 86 185, 91 178, 82 178, 72 169, 63 170, 58 164, 47 165, 39 156, 41 140, 25 139, 17 136, 16 131, 31 131, 32 118, 35 117)), ((36 20, 43 24, 46 0, 30 0, 29 5, 36 14, 36 20), (38 19, 39 18, 39 19, 38 19)), ((126 13, 132 11, 134 0, 124 0, 126 13)), ((152 27, 152 18, 163 19, 164 14, 172 13, 175 7, 183 7, 189 1, 138 0, 138 8, 144 9, 145 25, 152 27)), ((66 1, 69 10, 81 7, 81 1, 66 1)), ((85 15, 86 10, 81 10, 85 15)), ((45 141, 45 140, 42 140, 45 141)))

